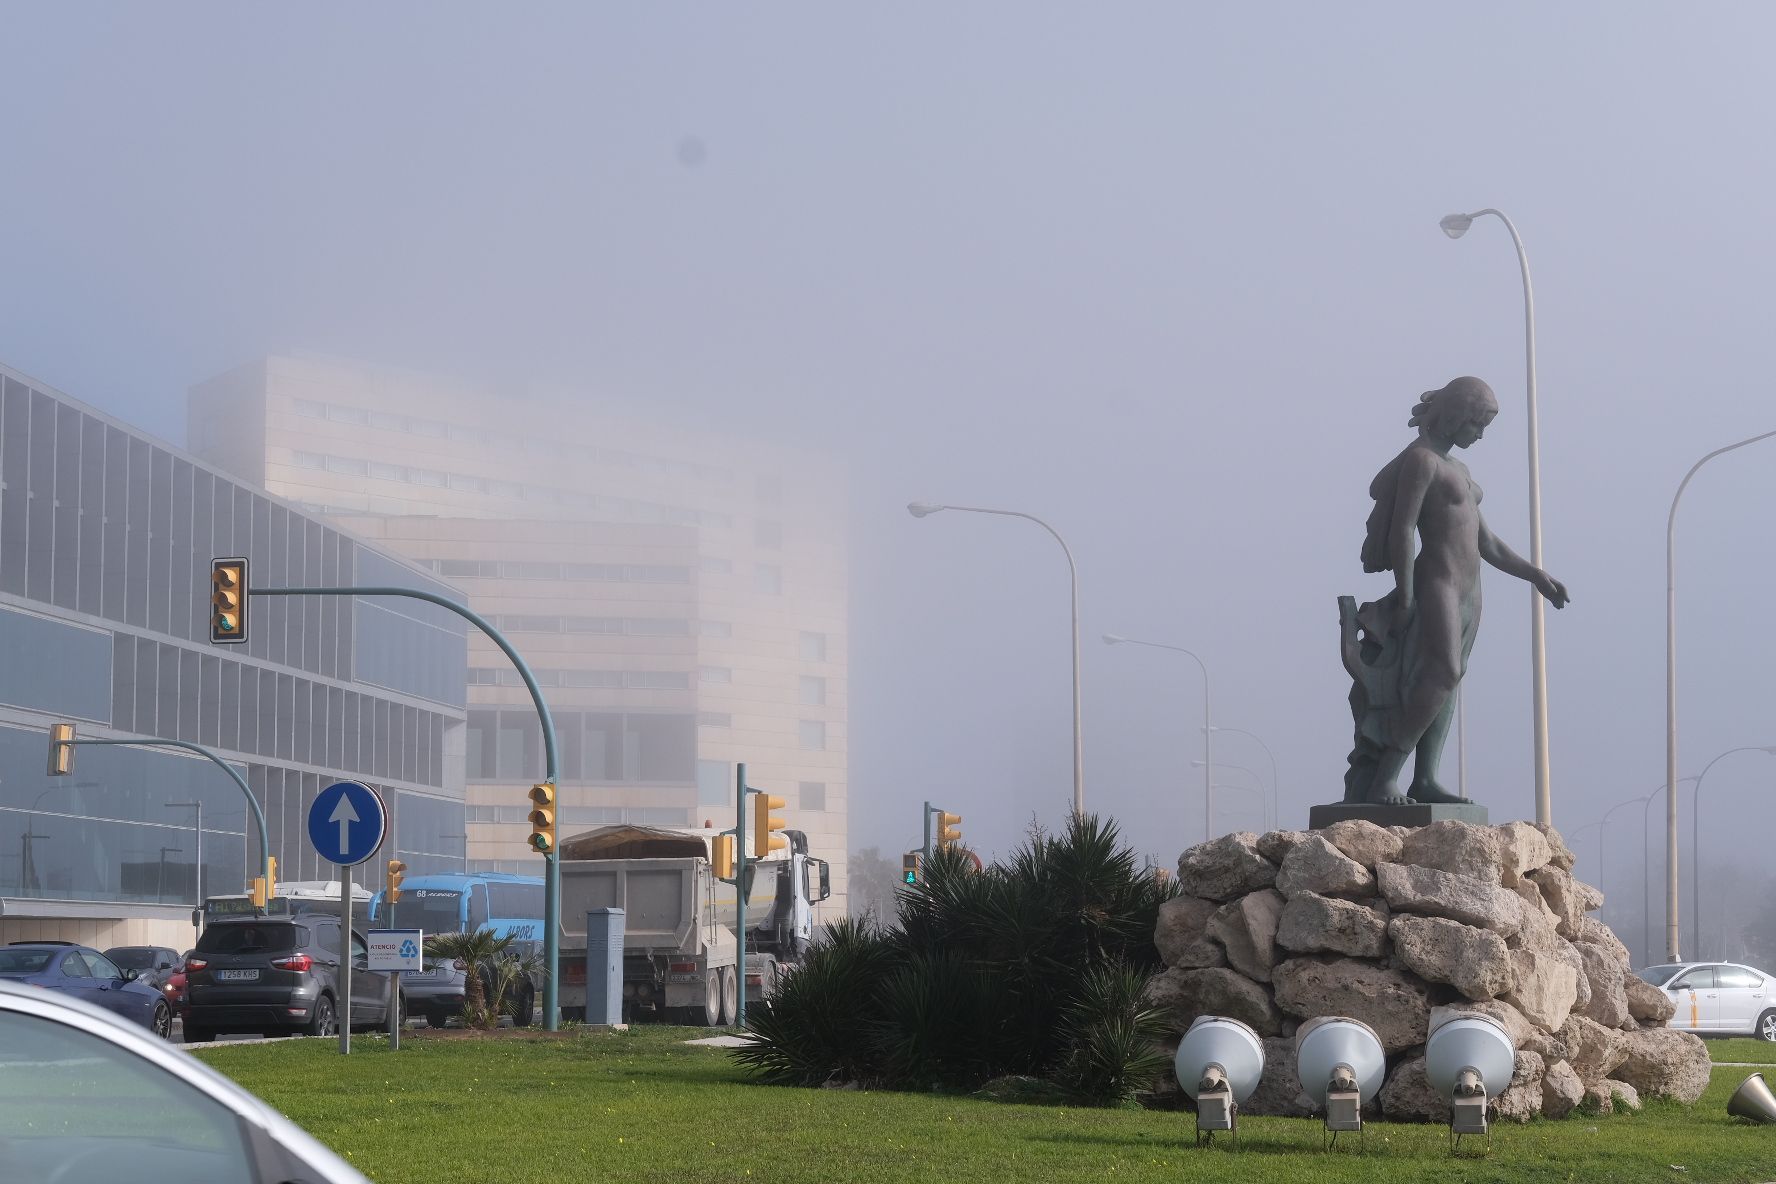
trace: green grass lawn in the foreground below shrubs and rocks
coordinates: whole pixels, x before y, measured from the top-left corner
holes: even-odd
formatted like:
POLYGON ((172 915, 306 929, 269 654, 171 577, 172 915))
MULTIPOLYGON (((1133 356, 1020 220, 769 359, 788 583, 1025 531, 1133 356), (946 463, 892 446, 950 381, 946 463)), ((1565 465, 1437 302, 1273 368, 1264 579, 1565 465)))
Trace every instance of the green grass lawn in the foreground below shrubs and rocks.
POLYGON ((684 1046, 691 1035, 408 1033, 400 1053, 359 1038, 350 1058, 329 1040, 197 1056, 384 1184, 1776 1179, 1776 1131, 1726 1117, 1739 1069, 1716 1070, 1694 1108, 1501 1125, 1488 1157, 1451 1159, 1446 1131, 1428 1125, 1375 1124, 1359 1156, 1343 1141, 1323 1154, 1314 1122, 1252 1118, 1238 1148, 1195 1148, 1186 1113, 755 1086, 726 1053, 684 1046))

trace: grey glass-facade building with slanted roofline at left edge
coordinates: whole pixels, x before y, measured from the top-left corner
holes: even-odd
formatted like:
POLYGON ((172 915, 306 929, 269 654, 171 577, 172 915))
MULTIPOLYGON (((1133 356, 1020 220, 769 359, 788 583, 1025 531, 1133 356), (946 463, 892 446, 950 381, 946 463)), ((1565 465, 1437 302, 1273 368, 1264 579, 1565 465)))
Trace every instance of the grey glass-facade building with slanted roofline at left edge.
MULTIPOLYGON (((378 788, 382 857, 465 857, 464 621, 417 600, 263 596, 249 641, 208 637, 210 561, 250 584, 449 584, 126 424, 0 367, 0 941, 188 944, 199 896, 243 891, 259 840, 210 762, 76 747, 48 728, 202 744, 240 769, 281 880, 334 879, 305 811, 329 783, 378 788), (197 806, 201 804, 201 808, 197 806), (197 833, 199 817, 202 833, 197 833)), ((361 872, 371 888, 380 859, 361 872), (366 875, 368 872, 368 875, 366 875)))

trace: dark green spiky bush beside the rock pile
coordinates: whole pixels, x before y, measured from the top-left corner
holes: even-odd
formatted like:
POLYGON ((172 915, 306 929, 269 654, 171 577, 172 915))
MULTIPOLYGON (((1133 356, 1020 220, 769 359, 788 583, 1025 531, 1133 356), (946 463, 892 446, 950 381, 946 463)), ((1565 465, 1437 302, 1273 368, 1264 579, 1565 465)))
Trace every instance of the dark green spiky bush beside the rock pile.
POLYGON ((1090 815, 980 872, 936 850, 900 889, 899 925, 826 930, 778 996, 748 1008, 758 1038, 735 1056, 783 1085, 1043 1077, 1074 1101, 1130 1099, 1167 1069, 1138 998, 1174 891, 1090 815))

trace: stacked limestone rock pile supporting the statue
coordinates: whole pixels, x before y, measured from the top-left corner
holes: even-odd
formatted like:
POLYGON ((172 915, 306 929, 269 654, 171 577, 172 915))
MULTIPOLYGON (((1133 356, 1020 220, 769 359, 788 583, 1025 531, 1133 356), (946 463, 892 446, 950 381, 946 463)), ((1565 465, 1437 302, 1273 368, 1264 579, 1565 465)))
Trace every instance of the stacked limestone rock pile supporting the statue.
POLYGON ((1265 1081, 1247 1113, 1305 1115, 1295 1028, 1360 1019, 1387 1049, 1380 1109, 1447 1120, 1424 1081, 1424 1038, 1446 1008, 1492 1015, 1517 1044, 1502 1118, 1565 1118, 1581 1102, 1694 1102, 1709 1053, 1666 1028, 1666 994, 1588 912, 1604 895, 1572 875, 1552 827, 1527 822, 1240 833, 1177 861, 1183 896, 1160 912, 1167 971, 1149 998, 1181 1033, 1229 1015, 1265 1037, 1265 1081))

